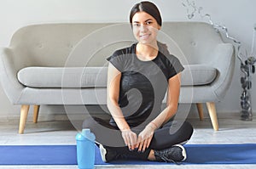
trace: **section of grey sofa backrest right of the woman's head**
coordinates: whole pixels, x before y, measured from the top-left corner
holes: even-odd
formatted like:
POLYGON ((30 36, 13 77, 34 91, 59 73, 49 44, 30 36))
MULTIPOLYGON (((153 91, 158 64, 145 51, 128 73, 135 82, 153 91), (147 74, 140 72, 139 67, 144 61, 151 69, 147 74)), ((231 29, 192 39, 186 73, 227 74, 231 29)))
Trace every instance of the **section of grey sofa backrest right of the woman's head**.
POLYGON ((177 42, 181 50, 176 51, 176 47, 169 50, 170 53, 176 54, 184 65, 211 64, 217 58, 214 58, 212 51, 219 43, 224 43, 212 25, 202 22, 166 22, 162 31, 177 42), (183 52, 183 56, 180 56, 180 51, 183 52))

